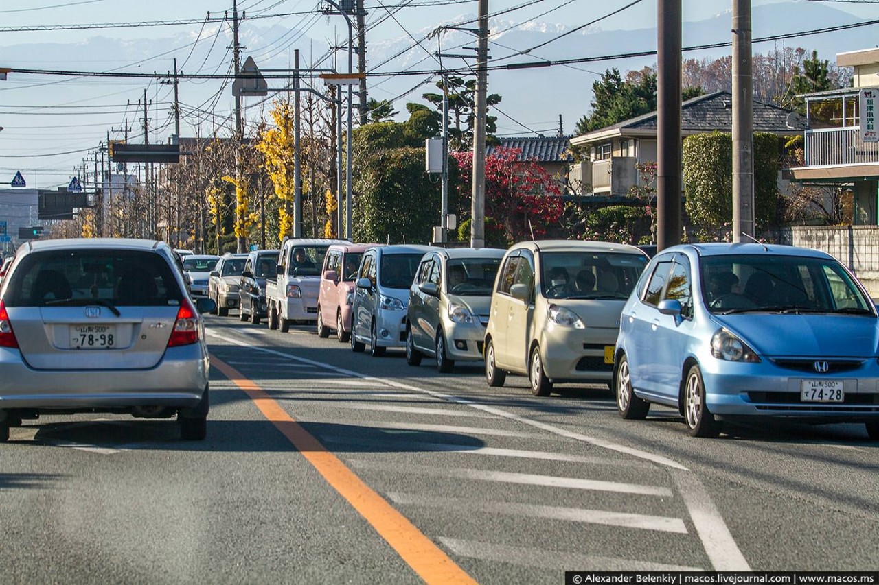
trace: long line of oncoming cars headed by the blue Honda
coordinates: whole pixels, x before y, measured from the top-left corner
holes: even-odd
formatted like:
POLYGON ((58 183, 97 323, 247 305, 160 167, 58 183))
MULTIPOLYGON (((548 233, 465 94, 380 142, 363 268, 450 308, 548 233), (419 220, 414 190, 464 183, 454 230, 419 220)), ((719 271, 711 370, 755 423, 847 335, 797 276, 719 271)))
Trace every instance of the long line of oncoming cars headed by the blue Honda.
POLYGON ((815 250, 684 244, 651 260, 607 242, 287 240, 247 258, 237 280, 212 272, 207 294, 232 308, 237 285, 251 303, 242 320, 265 317, 269 329, 313 322, 353 351, 399 348, 439 372, 481 361, 489 386, 523 374, 537 396, 607 384, 623 418, 678 408, 696 437, 716 436, 724 419, 784 417, 865 423, 879 438, 879 315, 857 278, 815 250), (262 283, 258 254, 276 263, 262 283))

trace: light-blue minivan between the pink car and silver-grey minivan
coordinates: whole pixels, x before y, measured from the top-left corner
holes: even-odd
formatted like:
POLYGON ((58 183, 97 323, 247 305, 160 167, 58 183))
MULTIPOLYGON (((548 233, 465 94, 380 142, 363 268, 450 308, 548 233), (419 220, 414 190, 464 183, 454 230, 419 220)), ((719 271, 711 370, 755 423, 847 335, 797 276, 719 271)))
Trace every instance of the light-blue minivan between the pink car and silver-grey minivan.
POLYGON ((352 307, 352 350, 369 343, 370 353, 381 356, 389 347, 405 347, 409 287, 422 256, 433 249, 403 244, 364 252, 352 307))

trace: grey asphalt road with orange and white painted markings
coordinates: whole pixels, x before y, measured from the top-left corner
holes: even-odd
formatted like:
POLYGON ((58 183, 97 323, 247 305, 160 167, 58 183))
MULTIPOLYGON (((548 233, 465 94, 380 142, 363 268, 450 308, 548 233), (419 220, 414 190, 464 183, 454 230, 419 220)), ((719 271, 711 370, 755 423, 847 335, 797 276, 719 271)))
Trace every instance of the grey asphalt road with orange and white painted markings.
POLYGON ((47 417, 0 447, 7 582, 562 583, 565 570, 874 570, 862 425, 623 421, 606 387, 537 399, 208 317, 204 442, 47 417))

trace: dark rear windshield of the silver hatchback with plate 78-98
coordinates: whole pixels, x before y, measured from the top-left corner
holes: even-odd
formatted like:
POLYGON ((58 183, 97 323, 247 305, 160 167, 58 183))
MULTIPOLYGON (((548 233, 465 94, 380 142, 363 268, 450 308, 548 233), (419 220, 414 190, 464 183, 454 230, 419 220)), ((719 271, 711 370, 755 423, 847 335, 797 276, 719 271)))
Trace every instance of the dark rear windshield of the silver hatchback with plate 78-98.
POLYGON ((163 256, 113 249, 28 254, 11 274, 4 294, 7 307, 168 306, 181 300, 183 293, 163 256))

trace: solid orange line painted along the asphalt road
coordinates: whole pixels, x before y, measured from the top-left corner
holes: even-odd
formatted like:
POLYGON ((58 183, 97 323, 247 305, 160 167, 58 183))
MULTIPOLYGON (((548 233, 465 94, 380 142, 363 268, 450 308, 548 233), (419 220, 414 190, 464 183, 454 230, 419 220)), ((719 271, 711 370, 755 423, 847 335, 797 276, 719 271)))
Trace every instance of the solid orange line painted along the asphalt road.
POLYGON ((323 479, 363 516, 381 538, 428 583, 476 583, 439 546, 369 488, 356 473, 281 408, 278 401, 241 372, 211 355, 211 365, 247 394, 259 411, 323 475, 323 479))

